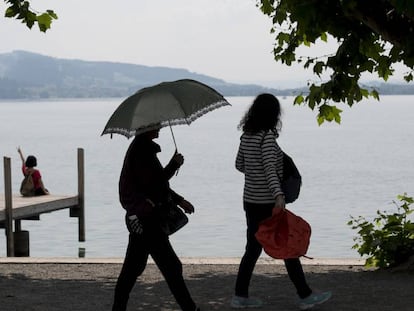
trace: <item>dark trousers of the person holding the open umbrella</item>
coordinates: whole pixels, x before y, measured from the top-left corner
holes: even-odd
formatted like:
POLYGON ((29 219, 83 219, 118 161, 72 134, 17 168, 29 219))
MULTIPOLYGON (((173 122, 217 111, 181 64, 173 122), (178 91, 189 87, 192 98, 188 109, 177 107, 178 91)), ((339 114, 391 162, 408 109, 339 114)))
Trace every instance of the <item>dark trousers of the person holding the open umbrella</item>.
MULTIPOLYGON (((181 309, 194 311, 196 305, 184 282, 181 261, 175 254, 168 236, 161 229, 145 230, 145 228, 143 234, 129 235, 124 264, 115 287, 112 310, 126 310, 129 294, 137 278, 144 271, 149 255, 160 269, 181 309)), ((160 301, 162 301, 161 297, 160 301)))

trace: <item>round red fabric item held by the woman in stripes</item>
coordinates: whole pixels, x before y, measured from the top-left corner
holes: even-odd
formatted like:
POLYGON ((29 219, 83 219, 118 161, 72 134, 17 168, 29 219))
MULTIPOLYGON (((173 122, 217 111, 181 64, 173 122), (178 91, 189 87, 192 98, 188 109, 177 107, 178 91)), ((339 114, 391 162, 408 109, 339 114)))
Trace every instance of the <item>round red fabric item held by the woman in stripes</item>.
POLYGON ((310 242, 311 227, 287 209, 274 209, 270 218, 259 225, 256 239, 270 257, 277 259, 305 256, 310 242))

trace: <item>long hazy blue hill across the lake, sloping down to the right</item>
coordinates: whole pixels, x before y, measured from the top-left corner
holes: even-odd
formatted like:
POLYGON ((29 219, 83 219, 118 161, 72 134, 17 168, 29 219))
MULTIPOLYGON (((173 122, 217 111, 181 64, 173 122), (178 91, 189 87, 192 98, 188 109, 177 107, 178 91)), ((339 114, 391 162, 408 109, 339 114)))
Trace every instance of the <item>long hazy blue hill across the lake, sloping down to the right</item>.
POLYGON ((206 83, 225 96, 280 93, 185 69, 59 59, 25 51, 0 54, 0 99, 125 97, 146 86, 184 78, 206 83))

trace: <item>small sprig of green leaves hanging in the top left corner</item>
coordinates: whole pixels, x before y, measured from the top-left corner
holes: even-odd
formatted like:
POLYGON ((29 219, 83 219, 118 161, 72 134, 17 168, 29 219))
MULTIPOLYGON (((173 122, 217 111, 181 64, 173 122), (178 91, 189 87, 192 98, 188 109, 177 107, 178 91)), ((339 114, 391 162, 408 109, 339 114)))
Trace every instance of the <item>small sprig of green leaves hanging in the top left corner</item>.
POLYGON ((50 28, 52 21, 58 18, 53 10, 46 10, 43 13, 34 11, 30 7, 29 1, 4 0, 4 2, 9 5, 4 16, 21 20, 29 29, 32 29, 33 25, 37 23, 39 30, 46 32, 50 28))

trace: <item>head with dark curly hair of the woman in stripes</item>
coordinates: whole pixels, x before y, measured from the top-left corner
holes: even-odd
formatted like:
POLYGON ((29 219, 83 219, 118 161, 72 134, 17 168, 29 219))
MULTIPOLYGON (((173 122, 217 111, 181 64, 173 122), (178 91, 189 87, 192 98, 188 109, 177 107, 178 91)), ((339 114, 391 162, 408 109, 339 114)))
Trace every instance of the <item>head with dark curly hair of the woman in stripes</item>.
POLYGON ((272 94, 258 95, 241 119, 238 128, 243 132, 257 133, 281 128, 279 100, 272 94))

